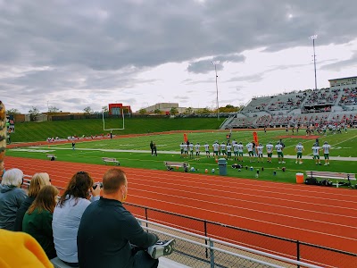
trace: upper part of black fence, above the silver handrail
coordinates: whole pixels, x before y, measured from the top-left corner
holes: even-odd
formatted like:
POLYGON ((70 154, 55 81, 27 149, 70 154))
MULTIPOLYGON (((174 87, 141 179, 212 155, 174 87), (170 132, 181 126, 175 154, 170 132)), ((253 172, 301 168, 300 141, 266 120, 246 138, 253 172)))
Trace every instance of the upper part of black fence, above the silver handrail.
MULTIPOLYGON (((357 254, 350 252, 321 247, 294 239, 285 239, 258 231, 245 230, 220 222, 205 221, 174 214, 143 205, 125 204, 125 206, 132 214, 135 214, 138 218, 145 219, 145 221, 163 223, 172 228, 186 230, 212 239, 219 239, 241 247, 249 247, 268 254, 322 267, 357 267, 357 254)), ((204 254, 204 259, 207 260, 209 257, 209 254, 204 254)))

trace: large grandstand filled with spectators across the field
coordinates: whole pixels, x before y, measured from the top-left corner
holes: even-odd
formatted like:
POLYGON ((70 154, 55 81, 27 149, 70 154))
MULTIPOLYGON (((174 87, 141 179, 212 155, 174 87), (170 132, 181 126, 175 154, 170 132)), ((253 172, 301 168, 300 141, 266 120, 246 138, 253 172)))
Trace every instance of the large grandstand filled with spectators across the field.
POLYGON ((221 129, 357 125, 357 76, 328 80, 329 88, 254 96, 221 129))

